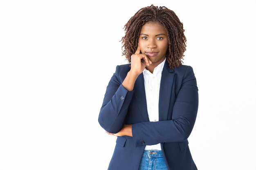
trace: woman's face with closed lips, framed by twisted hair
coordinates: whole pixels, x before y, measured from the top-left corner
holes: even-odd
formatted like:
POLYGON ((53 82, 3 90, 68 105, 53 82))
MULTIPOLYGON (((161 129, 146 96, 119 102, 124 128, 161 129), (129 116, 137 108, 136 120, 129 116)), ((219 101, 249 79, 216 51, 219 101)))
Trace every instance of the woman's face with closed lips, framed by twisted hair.
POLYGON ((139 35, 139 48, 152 63, 164 61, 168 49, 168 37, 164 26, 158 22, 147 22, 139 35))

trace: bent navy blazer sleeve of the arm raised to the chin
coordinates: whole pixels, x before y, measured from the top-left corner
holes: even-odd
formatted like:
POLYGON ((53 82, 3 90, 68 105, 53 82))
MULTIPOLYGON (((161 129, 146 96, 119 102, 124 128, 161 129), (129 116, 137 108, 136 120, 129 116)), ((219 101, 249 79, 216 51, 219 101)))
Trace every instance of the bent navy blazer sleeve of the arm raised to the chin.
POLYGON ((128 91, 121 84, 119 66, 108 83, 103 104, 99 113, 99 124, 110 133, 119 132, 126 118, 133 91, 128 91))

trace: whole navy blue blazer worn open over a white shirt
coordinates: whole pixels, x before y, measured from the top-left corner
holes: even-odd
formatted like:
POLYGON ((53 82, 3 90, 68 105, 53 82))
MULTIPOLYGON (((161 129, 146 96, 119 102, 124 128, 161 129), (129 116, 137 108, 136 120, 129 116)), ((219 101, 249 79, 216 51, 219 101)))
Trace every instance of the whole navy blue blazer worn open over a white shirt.
POLYGON ((164 64, 159 91, 159 121, 149 121, 143 73, 133 91, 124 81, 130 64, 117 66, 108 83, 99 113, 99 124, 117 133, 132 124, 132 136, 117 137, 108 170, 138 170, 146 145, 161 144, 169 170, 197 170, 187 140, 198 111, 198 87, 191 66, 175 69, 164 64))

